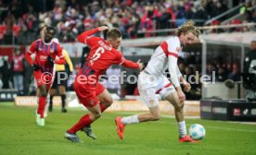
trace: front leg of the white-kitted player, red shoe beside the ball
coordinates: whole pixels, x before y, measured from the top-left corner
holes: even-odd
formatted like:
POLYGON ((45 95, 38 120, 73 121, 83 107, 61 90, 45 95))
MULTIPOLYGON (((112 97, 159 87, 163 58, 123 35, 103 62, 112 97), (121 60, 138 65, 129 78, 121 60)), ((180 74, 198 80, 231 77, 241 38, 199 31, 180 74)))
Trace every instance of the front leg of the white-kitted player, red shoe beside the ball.
POLYGON ((179 132, 179 141, 180 142, 197 142, 193 140, 191 137, 186 135, 186 122, 184 119, 184 102, 179 101, 179 97, 177 92, 173 91, 173 86, 171 88, 166 88, 164 99, 169 101, 173 104, 175 118, 178 125, 178 132, 179 132), (168 90, 170 89, 170 90, 168 90))

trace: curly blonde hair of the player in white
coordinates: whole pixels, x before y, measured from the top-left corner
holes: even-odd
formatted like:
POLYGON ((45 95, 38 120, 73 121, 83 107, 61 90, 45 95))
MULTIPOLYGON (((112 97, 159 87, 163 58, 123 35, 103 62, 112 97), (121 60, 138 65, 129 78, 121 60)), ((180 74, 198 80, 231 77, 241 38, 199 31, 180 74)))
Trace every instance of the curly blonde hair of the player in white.
POLYGON ((181 33, 187 34, 188 32, 192 32, 197 38, 201 34, 200 30, 194 25, 192 20, 186 21, 185 24, 176 30, 177 36, 180 36, 181 33))

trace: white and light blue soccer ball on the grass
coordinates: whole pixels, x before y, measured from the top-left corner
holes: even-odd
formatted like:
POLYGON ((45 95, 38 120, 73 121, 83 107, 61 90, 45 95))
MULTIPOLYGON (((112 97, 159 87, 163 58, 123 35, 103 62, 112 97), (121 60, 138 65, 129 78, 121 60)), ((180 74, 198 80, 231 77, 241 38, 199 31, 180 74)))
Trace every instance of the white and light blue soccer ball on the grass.
POLYGON ((194 140, 201 140, 205 137, 205 128, 199 124, 191 125, 189 127, 189 136, 194 140))

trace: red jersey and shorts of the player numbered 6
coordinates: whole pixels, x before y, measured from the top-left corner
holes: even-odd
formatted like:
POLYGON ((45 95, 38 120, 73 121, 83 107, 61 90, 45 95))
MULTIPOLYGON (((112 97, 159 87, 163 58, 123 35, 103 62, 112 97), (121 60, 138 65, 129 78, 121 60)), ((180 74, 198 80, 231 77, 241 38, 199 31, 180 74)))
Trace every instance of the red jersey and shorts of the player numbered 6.
POLYGON ((91 51, 83 68, 74 80, 74 90, 79 101, 86 107, 94 107, 98 103, 98 96, 104 91, 104 87, 98 83, 98 77, 103 74, 109 66, 116 64, 130 68, 139 68, 139 64, 123 58, 122 53, 114 49, 102 38, 89 37, 98 29, 88 30, 77 36, 79 42, 91 46, 91 51), (86 78, 82 78, 83 76, 86 78), (96 79, 96 80, 95 80, 96 79), (83 84, 83 82, 85 82, 83 84))

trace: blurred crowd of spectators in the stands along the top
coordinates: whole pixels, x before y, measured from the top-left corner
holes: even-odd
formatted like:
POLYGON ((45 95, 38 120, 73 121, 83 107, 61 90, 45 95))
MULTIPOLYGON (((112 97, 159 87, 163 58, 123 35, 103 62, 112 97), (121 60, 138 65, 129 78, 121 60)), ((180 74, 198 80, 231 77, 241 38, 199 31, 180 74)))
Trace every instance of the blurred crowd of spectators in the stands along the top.
MULTIPOLYGON (((60 42, 75 42, 77 34, 100 25, 117 27, 124 39, 164 35, 138 33, 140 30, 176 28, 187 19, 198 26, 228 10, 227 0, 0 0, 0 41, 3 44, 29 44, 38 38, 42 24, 58 30, 60 42)), ((234 0, 233 6, 243 4, 239 10, 243 21, 255 22, 255 0, 234 0)), ((212 20, 219 25, 229 17, 212 20)), ((237 29, 234 29, 237 30, 237 29)), ((166 34, 166 33, 165 33, 166 34)))

